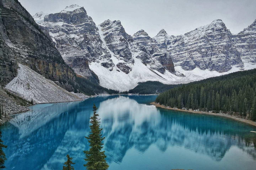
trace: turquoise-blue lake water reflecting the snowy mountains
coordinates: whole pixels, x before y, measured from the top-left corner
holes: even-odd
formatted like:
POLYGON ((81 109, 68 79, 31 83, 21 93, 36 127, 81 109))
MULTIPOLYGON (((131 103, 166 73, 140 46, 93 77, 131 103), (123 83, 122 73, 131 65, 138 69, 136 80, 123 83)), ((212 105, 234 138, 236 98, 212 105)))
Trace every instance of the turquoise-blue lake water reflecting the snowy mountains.
POLYGON ((227 118, 156 108, 156 96, 108 96, 41 104, 5 123, 6 169, 83 167, 93 103, 109 170, 256 169, 256 128, 227 118))

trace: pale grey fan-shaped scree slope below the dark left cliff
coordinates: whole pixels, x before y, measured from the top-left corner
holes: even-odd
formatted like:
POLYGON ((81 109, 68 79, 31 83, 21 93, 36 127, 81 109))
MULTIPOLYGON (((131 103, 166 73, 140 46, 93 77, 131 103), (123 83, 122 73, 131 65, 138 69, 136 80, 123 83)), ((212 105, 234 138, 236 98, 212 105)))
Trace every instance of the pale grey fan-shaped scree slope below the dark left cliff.
POLYGON ((29 67, 19 64, 18 75, 6 88, 20 94, 34 103, 69 102, 82 100, 78 96, 59 87, 29 67))

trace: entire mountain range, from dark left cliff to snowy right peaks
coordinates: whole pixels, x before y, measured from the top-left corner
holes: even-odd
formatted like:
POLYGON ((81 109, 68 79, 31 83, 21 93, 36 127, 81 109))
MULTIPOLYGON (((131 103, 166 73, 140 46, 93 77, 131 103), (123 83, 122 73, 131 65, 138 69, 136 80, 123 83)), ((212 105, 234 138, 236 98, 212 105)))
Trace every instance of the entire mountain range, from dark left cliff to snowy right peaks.
MULTIPOLYGON (((96 25, 78 5, 33 17, 17 0, 0 0, 0 8, 0 83, 18 94, 42 93, 33 85, 45 83, 37 73, 65 89, 56 99, 63 101, 67 95, 79 100, 71 94, 83 92, 79 82, 84 81, 77 77, 107 93, 127 91, 139 82, 180 84, 256 68, 256 20, 238 34, 214 20, 184 35, 162 29, 151 38, 144 30, 127 34, 119 20, 96 25), (31 81, 14 81, 30 73, 31 81)), ((22 97, 31 100, 31 95, 22 97)))

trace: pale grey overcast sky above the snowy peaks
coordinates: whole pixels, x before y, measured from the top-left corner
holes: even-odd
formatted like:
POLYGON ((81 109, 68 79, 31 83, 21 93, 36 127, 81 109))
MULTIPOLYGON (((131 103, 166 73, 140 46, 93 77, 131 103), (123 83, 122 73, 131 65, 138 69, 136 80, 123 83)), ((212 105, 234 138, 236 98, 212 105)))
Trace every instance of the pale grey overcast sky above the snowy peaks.
POLYGON ((66 6, 83 6, 96 25, 120 20, 133 35, 140 29, 154 37, 161 29, 181 35, 221 19, 234 34, 256 19, 256 0, 19 0, 31 15, 57 13, 66 6))

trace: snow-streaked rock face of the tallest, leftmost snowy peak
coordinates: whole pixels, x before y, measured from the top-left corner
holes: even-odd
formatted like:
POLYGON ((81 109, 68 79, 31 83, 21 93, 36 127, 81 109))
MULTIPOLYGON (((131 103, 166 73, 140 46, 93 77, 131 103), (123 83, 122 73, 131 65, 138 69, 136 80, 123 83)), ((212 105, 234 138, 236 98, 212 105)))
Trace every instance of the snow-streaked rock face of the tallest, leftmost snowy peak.
POLYGON ((71 5, 59 13, 45 15, 41 12, 34 17, 49 31, 64 61, 76 73, 84 77, 91 76, 88 62, 105 60, 113 65, 110 53, 103 46, 98 28, 83 7, 71 5))

